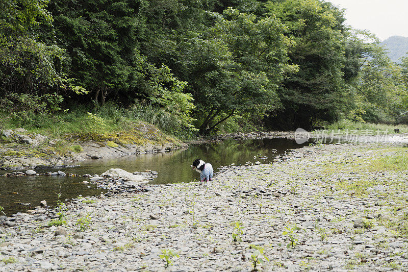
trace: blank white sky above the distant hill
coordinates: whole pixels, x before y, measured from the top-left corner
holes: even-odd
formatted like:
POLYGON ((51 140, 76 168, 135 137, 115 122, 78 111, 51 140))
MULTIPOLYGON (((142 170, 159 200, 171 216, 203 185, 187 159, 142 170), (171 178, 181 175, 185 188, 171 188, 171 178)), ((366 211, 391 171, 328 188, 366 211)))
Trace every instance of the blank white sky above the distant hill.
POLYGON ((367 29, 380 40, 408 37, 408 0, 326 0, 346 9, 346 24, 367 29))

